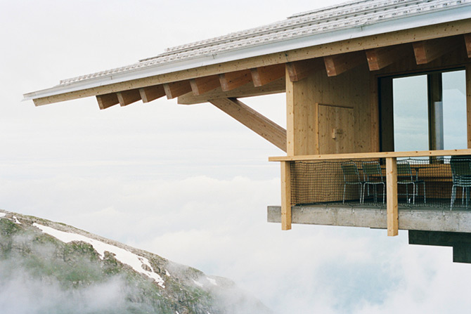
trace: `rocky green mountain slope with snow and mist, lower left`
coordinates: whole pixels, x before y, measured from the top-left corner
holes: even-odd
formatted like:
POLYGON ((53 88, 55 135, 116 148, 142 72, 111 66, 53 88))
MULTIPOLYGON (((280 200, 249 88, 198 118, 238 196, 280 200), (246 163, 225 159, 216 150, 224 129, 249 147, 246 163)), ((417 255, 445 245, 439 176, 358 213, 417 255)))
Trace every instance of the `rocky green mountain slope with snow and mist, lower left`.
POLYGON ((0 210, 0 313, 271 313, 223 277, 0 210))

